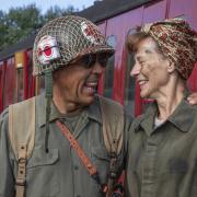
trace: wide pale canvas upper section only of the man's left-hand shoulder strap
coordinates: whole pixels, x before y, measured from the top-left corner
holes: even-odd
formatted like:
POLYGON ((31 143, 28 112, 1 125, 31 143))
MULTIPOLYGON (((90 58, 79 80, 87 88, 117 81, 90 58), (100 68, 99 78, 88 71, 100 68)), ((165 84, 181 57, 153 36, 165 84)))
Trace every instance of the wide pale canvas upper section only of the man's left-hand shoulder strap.
POLYGON ((26 144, 30 158, 35 139, 35 97, 9 106, 9 137, 16 159, 20 144, 26 144))

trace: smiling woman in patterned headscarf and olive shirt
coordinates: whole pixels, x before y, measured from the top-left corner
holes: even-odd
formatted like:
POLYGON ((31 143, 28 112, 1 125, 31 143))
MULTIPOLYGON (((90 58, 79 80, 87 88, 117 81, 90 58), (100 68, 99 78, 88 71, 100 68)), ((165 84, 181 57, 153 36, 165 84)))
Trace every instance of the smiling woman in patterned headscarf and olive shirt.
POLYGON ((126 197, 197 196, 197 106, 186 80, 197 60, 197 34, 181 19, 144 25, 128 37, 130 72, 153 99, 129 132, 126 197))

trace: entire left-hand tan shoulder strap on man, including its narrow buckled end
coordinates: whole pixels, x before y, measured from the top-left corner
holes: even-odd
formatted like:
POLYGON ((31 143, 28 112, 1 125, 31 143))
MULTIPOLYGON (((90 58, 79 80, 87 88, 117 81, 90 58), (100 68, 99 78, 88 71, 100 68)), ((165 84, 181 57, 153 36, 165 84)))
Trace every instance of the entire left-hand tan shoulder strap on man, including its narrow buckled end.
POLYGON ((26 161, 35 140, 35 97, 9 106, 9 138, 18 159, 16 197, 24 197, 26 161))

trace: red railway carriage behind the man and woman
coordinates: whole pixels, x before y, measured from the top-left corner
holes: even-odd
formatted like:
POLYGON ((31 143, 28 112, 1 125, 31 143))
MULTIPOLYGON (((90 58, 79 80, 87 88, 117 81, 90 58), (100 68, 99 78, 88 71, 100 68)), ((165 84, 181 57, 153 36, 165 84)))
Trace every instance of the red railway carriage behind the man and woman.
MULTIPOLYGON (((166 18, 184 18, 197 30, 196 0, 103 0, 77 13, 99 25, 116 53, 109 59, 99 93, 124 104, 132 115, 139 115, 144 104, 139 86, 129 72, 132 55, 125 47, 128 34, 143 23, 166 18)), ((9 104, 25 100, 43 91, 43 79, 32 77, 32 47, 35 35, 0 53, 0 112, 9 104)), ((197 68, 188 80, 192 91, 197 91, 197 68)))

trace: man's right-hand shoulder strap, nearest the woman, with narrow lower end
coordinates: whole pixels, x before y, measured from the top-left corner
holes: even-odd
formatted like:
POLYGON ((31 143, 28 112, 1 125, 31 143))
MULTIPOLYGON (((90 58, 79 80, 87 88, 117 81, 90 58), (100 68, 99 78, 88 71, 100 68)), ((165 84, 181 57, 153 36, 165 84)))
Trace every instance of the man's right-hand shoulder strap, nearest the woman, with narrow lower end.
POLYGON ((100 97, 100 104, 103 119, 103 138, 107 152, 111 155, 106 197, 112 197, 115 183, 118 178, 117 158, 123 148, 124 108, 119 103, 114 101, 109 102, 109 100, 105 97, 100 97))

